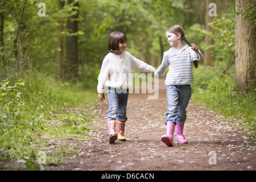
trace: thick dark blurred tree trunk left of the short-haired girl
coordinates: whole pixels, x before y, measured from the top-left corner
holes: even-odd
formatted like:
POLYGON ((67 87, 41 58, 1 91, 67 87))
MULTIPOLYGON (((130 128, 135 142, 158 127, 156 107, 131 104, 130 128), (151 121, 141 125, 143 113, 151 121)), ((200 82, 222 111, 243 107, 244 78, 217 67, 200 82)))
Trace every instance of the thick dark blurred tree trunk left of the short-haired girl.
MULTIPOLYGON (((68 4, 73 4, 77 9, 77 13, 73 16, 69 16, 67 20, 67 29, 69 34, 76 34, 78 31, 78 18, 79 18, 79 2, 74 0, 68 0, 68 4)), ((78 63, 78 46, 77 46, 77 34, 69 35, 66 37, 66 53, 67 53, 67 62, 65 64, 65 77, 69 78, 78 78, 79 63, 78 63)))

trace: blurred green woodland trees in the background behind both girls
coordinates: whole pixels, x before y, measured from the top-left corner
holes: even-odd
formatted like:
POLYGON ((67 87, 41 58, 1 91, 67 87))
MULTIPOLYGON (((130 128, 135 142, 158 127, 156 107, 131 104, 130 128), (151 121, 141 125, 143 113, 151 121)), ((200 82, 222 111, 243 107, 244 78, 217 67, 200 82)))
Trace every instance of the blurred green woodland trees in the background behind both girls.
MULTIPOLYGON (((241 27, 238 23, 255 21, 255 0, 42 2, 46 5, 46 16, 38 15, 42 8, 38 7, 39 1, 1 0, 2 80, 16 80, 26 72, 40 71, 67 81, 80 82, 82 88, 94 87, 102 60, 108 53, 108 36, 112 31, 124 32, 128 38, 127 51, 158 67, 163 52, 170 48, 165 31, 174 24, 180 24, 187 40, 197 44, 204 52, 204 61, 200 66, 212 67, 218 64, 224 73, 235 71, 235 65, 238 65, 237 74, 240 74, 238 68, 246 73, 251 70, 250 76, 246 76, 247 81, 243 81, 244 86, 238 86, 243 91, 255 81, 255 53, 248 58, 252 66, 243 68, 239 65, 245 56, 237 50, 255 52, 255 38, 250 39, 250 45, 236 42, 235 39, 236 36, 240 39, 239 33, 244 32, 236 29, 236 22, 237 27, 241 27), (240 2, 243 2, 244 7, 238 6, 240 2), (214 3, 216 9, 209 6, 210 3, 214 3), (216 15, 209 16, 209 11, 216 15), (240 14, 237 14, 238 11, 240 14), (241 18, 243 16, 244 20, 241 18), (237 57, 241 58, 240 61, 237 57)), ((246 27, 242 26, 245 31, 250 30, 251 35, 255 35, 255 27, 250 28, 252 23, 246 24, 246 27)), ((238 83, 241 82, 241 76, 236 78, 238 83)))

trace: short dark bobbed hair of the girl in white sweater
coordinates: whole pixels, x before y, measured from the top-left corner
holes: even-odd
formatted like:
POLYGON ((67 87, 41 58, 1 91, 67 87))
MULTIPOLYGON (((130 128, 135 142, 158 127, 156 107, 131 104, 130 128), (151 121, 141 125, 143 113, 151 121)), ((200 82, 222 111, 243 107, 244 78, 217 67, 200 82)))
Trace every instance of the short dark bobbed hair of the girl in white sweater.
POLYGON ((108 48, 109 52, 120 51, 119 43, 127 42, 126 35, 122 32, 112 32, 109 34, 108 48))

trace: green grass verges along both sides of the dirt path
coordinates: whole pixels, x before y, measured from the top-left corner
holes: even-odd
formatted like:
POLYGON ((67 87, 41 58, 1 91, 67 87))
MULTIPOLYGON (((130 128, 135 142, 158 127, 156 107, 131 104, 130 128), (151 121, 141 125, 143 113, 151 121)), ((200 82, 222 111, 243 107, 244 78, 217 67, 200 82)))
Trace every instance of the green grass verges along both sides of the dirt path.
MULTIPOLYGON (((216 67, 194 70, 192 101, 238 121, 255 139, 255 92, 236 92, 234 73, 216 67)), ((143 81, 143 80, 142 80, 143 81)), ((145 81, 145 80, 144 80, 145 81)), ((95 89, 69 84, 34 73, 0 85, 0 168, 16 160, 21 169, 40 170, 40 152, 47 152, 47 165, 64 163, 80 148, 70 139, 88 140, 88 126, 95 119, 91 110, 98 100, 95 89), (62 141, 56 145, 51 140, 62 141)), ((15 163, 16 164, 16 163, 15 163)))

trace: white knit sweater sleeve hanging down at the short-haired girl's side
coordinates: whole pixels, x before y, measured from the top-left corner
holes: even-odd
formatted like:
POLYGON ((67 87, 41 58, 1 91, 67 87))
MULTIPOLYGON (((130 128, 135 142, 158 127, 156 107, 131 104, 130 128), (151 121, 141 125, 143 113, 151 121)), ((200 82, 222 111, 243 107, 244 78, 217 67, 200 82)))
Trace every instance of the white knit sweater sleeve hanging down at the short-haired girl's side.
POLYGON ((104 93, 105 82, 109 76, 109 73, 110 73, 110 64, 108 59, 106 59, 105 57, 105 59, 102 61, 100 75, 98 75, 98 86, 97 86, 98 93, 104 93))

